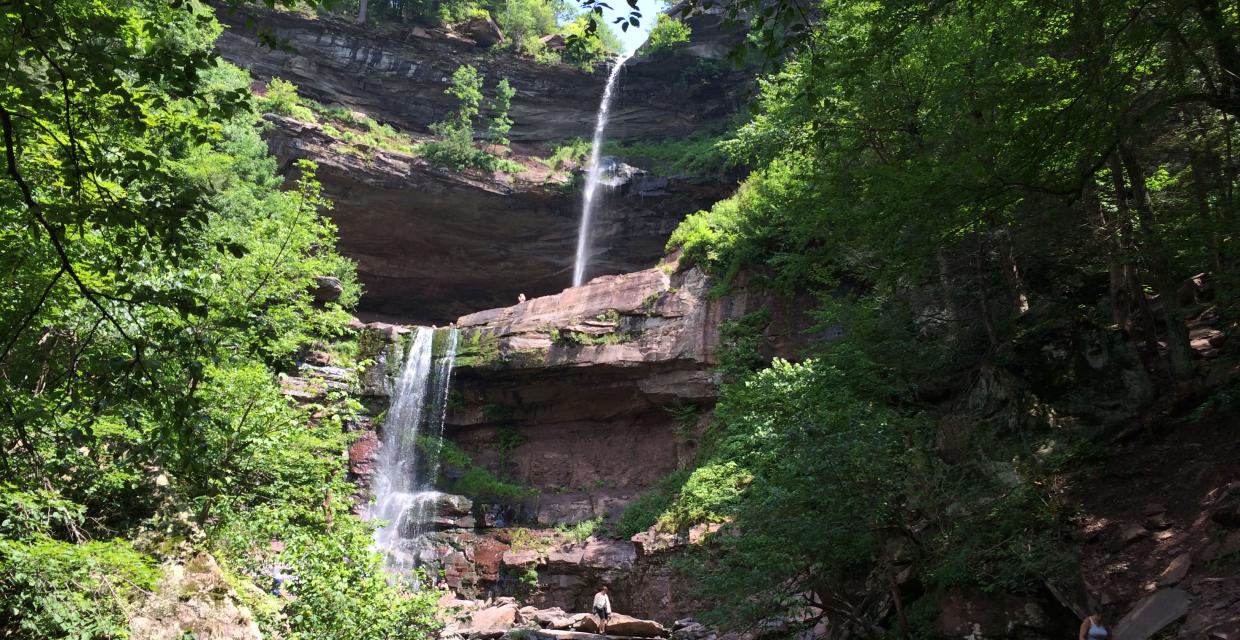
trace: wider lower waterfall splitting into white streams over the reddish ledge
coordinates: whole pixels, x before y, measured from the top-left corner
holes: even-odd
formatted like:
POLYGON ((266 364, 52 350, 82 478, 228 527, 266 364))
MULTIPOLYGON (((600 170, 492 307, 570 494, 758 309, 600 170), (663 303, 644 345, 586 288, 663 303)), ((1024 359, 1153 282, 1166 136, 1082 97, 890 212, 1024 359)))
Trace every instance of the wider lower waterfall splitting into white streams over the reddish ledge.
POLYGON ((438 361, 434 337, 434 330, 417 327, 404 356, 392 391, 392 406, 383 422, 374 474, 376 500, 367 512, 370 520, 384 522, 374 531, 374 547, 394 572, 414 567, 412 551, 425 533, 428 515, 440 495, 434 490, 439 474, 438 447, 427 448, 429 455, 419 460, 418 443, 419 438, 428 442, 427 437, 443 437, 458 331, 446 331, 446 346, 438 361))

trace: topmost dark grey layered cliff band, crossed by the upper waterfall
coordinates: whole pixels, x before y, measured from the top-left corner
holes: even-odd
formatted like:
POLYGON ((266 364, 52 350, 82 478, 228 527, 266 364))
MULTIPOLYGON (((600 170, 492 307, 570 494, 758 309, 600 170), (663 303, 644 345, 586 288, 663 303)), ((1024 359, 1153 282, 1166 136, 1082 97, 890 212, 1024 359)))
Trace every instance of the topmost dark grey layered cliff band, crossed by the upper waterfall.
MULTIPOLYGON (((508 52, 489 52, 467 36, 420 26, 365 29, 294 14, 221 11, 228 29, 217 47, 258 79, 296 83, 309 97, 361 110, 401 129, 425 131, 455 108, 444 94, 453 71, 474 64, 486 91, 507 78, 516 89, 510 138, 515 141, 589 138, 605 73, 568 64, 538 64, 508 52), (277 51, 259 40, 264 30, 291 47, 277 51)), ((713 128, 734 113, 751 73, 718 63, 713 19, 694 21, 702 46, 647 63, 636 58, 622 79, 610 139, 680 138, 713 128), (706 62, 699 62, 706 61, 706 62)))

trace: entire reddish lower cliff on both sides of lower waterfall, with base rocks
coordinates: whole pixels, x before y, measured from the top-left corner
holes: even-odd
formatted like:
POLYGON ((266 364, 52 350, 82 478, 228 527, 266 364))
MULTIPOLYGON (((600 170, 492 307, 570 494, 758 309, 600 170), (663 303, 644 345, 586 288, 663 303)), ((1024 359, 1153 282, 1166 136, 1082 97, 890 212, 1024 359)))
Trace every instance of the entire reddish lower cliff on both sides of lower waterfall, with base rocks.
MULTIPOLYGON (((632 615, 671 624, 699 610, 667 561, 702 532, 582 541, 552 527, 601 518, 605 532, 625 505, 688 466, 717 396, 720 324, 769 310, 764 350, 795 356, 830 339, 799 329, 804 308, 744 287, 712 298, 704 274, 673 258, 460 318, 445 435, 536 495, 508 511, 444 501, 419 561, 467 597, 523 593, 528 604, 583 611, 606 584, 632 615)), ((373 414, 386 408, 401 332, 379 324, 361 332, 360 352, 376 361, 362 377, 373 414)), ((362 501, 377 448, 366 430, 350 450, 362 501)))

